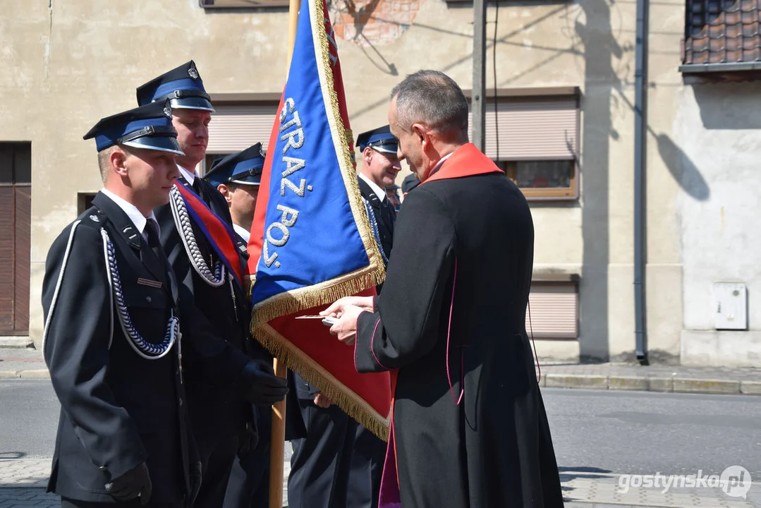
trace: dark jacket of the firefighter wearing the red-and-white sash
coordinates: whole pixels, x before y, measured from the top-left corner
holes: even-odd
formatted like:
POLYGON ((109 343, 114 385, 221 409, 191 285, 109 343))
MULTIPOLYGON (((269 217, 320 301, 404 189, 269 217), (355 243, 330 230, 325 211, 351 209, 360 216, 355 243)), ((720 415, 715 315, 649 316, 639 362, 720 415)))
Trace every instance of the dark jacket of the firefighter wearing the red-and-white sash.
MULTIPOLYGON (((212 212, 231 224, 224 196, 208 182, 198 177, 196 181, 202 186, 202 198, 212 212)), ((193 432, 196 439, 237 435, 253 418, 250 404, 244 402, 235 387, 241 369, 250 360, 247 296, 231 281, 213 287, 202 279, 190 264, 170 205, 161 206, 154 213, 161 226, 161 244, 177 275, 180 292, 186 297, 183 302, 189 302, 183 305, 182 316, 193 315, 194 333, 205 337, 193 340, 193 349, 186 351, 193 432)), ((199 250, 213 267, 218 255, 192 219, 191 225, 199 250)))

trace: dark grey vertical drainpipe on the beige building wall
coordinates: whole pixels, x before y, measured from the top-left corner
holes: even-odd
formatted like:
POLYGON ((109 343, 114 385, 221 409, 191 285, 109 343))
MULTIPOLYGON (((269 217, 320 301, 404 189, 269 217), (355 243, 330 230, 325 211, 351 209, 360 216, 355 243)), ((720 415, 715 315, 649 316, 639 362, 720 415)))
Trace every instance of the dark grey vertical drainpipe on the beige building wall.
POLYGON ((645 318, 645 161, 647 160, 648 0, 637 0, 634 84, 634 319, 637 360, 648 365, 645 318))

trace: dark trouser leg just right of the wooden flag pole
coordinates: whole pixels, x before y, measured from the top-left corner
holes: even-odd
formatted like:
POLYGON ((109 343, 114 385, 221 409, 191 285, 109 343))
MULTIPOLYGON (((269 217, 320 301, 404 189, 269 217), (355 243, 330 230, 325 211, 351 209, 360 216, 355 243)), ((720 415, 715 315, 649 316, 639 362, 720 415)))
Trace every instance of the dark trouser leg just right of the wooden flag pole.
POLYGON ((357 423, 333 405, 300 400, 307 437, 294 439, 289 508, 346 508, 357 423))

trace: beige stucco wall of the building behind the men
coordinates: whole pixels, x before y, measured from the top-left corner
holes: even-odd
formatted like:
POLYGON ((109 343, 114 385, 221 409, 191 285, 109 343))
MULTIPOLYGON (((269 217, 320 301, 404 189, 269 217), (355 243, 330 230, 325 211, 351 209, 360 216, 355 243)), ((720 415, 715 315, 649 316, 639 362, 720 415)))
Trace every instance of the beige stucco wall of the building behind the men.
MULTIPOLYGON (((409 29, 381 34, 368 25, 362 37, 356 27, 339 30, 347 37, 338 43, 355 133, 386 122, 388 93, 409 72, 440 69, 471 88, 471 5, 400 3, 417 9, 409 29)), ((33 147, 30 335, 39 344, 47 249, 75 218, 77 193, 100 188, 94 145, 81 136, 100 117, 134 107, 137 86, 189 59, 212 94, 279 92, 288 14, 204 11, 197 0, 0 0, 0 8, 0 65, 14 69, 0 75, 0 139, 33 147)), ((634 8, 605 0, 503 4, 496 18, 498 88, 581 88, 581 197, 532 204, 537 270, 581 275, 581 341, 537 344, 546 358, 624 359, 634 350, 634 8)), ((667 168, 677 152, 658 136, 671 136, 683 7, 651 11, 653 30, 664 32, 651 36, 651 46, 667 50, 651 56, 648 333, 651 348, 668 356, 679 353, 682 327, 679 186, 667 168)), ((492 5, 489 39, 495 15, 492 5)), ((492 88, 491 40, 488 47, 492 88)))

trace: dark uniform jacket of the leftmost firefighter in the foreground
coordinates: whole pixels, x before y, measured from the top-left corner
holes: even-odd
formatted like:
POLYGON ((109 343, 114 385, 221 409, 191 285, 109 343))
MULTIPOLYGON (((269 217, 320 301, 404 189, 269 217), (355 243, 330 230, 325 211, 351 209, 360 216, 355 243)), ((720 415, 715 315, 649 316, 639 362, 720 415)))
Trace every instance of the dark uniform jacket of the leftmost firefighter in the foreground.
POLYGON ((61 402, 48 489, 113 503, 105 484, 147 462, 151 501, 180 503, 189 462, 198 460, 186 427, 180 345, 160 359, 135 352, 116 314, 101 228, 113 244, 111 270, 118 270, 132 324, 151 343, 164 340, 177 308, 169 274, 116 203, 103 193, 93 203, 46 260, 43 353, 61 402))

